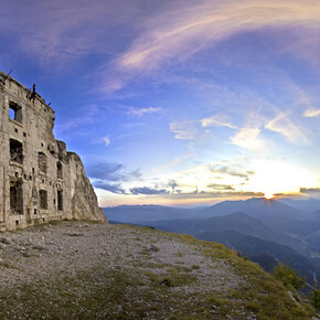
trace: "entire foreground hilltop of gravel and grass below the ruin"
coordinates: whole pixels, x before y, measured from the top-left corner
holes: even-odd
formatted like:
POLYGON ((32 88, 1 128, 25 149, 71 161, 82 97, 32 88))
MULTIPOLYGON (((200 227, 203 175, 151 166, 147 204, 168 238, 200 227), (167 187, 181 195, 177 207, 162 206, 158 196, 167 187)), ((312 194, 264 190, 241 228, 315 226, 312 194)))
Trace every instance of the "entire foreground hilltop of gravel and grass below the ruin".
POLYGON ((152 228, 62 222, 0 234, 1 319, 312 319, 256 265, 152 228))

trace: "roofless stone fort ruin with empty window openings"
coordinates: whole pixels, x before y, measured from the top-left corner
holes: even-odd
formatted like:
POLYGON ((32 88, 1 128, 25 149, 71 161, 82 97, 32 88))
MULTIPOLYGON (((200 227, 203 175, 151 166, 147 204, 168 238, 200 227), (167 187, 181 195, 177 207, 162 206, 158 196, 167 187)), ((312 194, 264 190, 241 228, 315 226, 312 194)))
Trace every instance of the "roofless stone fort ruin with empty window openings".
POLYGON ((81 158, 55 140, 54 120, 35 86, 0 72, 0 230, 105 220, 81 158))

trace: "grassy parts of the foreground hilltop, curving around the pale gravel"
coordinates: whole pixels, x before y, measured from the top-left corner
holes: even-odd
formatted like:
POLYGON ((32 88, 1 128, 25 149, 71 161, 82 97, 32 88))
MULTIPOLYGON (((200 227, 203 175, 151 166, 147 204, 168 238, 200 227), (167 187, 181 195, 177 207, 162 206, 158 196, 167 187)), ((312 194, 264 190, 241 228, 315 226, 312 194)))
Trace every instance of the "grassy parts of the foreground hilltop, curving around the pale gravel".
MULTIPOLYGON (((196 281, 190 270, 159 264, 148 267, 162 271, 150 273, 137 258, 134 266, 109 269, 98 265, 76 275, 58 274, 54 279, 35 277, 33 282, 11 290, 0 288, 0 319, 225 319, 226 316, 247 319, 254 313, 257 319, 287 320, 316 316, 309 305, 294 301, 288 290, 258 265, 237 257, 223 245, 150 228, 139 231, 160 233, 195 246, 203 255, 230 264, 245 281, 241 288, 218 295, 216 291, 188 294, 188 287, 196 281), (185 290, 175 290, 178 287, 185 287, 185 290)), ((194 266, 196 268, 199 266, 194 266)))

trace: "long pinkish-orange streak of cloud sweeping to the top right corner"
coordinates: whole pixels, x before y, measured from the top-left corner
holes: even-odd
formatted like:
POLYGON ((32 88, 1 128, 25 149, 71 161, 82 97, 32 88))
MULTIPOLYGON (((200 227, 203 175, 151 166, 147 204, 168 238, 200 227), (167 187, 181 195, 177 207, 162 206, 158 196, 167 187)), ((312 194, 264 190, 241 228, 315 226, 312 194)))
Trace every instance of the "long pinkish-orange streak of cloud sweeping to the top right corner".
POLYGON ((119 68, 154 70, 163 62, 175 56, 188 57, 236 32, 265 26, 319 26, 320 22, 320 3, 314 0, 246 0, 220 4, 201 1, 177 9, 150 19, 148 32, 117 60, 119 68))

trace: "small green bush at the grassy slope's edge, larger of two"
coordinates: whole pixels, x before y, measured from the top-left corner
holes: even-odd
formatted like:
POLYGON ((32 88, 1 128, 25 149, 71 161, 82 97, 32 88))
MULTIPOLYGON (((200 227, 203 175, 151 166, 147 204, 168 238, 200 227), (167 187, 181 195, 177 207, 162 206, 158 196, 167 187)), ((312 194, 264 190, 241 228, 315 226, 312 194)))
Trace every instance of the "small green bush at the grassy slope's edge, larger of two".
POLYGON ((306 278, 300 277, 297 271, 284 264, 276 266, 274 276, 288 288, 294 287, 296 290, 299 290, 306 286, 306 278))

